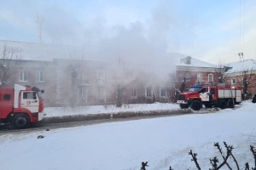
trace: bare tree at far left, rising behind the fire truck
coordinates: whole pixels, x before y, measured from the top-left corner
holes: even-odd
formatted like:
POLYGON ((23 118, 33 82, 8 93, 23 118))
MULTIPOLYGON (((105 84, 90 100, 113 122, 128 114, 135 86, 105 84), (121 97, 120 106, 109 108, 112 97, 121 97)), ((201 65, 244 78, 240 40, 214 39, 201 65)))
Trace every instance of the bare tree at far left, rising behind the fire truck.
POLYGON ((0 88, 9 86, 10 79, 19 69, 22 60, 22 51, 19 48, 3 46, 3 52, 0 56, 0 88))

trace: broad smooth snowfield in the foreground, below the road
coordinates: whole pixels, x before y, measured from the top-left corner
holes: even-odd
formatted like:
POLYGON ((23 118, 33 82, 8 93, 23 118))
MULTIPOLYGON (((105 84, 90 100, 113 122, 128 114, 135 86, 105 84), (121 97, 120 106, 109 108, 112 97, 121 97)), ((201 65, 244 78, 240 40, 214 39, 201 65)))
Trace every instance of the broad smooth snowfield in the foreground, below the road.
MULTIPOLYGON (((149 105, 148 105, 149 106, 149 105)), ((0 135, 0 168, 135 170, 148 161, 147 170, 196 169, 189 150, 198 154, 201 169, 218 156, 213 142, 232 144, 244 169, 253 166, 250 144, 256 146, 256 104, 236 110, 191 114, 85 127, 0 135), (37 139, 44 135, 44 139, 37 139)), ((1 131, 0 131, 1 133, 1 131)), ((230 159, 231 160, 231 159, 230 159)), ((229 161, 236 169, 234 161, 229 161)), ((228 169, 224 167, 223 169, 228 169)))

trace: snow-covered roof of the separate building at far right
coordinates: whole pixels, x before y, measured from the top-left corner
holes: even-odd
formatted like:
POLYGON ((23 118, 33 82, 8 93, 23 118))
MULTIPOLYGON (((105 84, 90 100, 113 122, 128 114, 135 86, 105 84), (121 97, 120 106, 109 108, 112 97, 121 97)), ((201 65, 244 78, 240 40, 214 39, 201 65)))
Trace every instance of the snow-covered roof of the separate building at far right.
POLYGON ((256 60, 246 59, 244 61, 236 61, 228 64, 227 66, 232 67, 227 73, 236 73, 242 71, 254 71, 256 70, 256 60))

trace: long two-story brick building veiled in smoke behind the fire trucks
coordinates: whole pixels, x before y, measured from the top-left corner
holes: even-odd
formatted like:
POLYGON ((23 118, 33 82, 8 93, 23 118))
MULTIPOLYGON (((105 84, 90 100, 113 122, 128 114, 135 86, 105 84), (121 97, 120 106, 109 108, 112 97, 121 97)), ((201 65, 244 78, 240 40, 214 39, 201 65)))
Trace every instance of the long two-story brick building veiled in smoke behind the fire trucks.
POLYGON ((123 69, 119 63, 84 59, 79 51, 71 53, 72 48, 8 44, 24 52, 9 86, 18 83, 44 89, 45 106, 113 104, 118 92, 125 103, 171 102, 184 79, 185 89, 197 82, 218 82, 221 73, 217 65, 176 53, 166 54, 160 65, 153 63, 146 70, 143 65, 123 69))

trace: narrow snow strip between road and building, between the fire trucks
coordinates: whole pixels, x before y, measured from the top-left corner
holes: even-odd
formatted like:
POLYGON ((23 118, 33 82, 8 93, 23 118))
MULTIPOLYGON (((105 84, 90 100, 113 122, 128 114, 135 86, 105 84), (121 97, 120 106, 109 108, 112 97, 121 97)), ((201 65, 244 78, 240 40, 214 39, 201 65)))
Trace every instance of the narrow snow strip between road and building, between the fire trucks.
POLYGON ((118 113, 125 111, 163 111, 177 110, 177 104, 154 103, 154 104, 125 104, 118 108, 115 105, 88 105, 82 107, 46 107, 44 112, 46 117, 52 116, 72 116, 102 113, 118 113))

